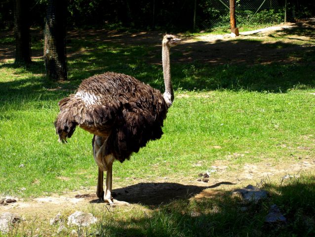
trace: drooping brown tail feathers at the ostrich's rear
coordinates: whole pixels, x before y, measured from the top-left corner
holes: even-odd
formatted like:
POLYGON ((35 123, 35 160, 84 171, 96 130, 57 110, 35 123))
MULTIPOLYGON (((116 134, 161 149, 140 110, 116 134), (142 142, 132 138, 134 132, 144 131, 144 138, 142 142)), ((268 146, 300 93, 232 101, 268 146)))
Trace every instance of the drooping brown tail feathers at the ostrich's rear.
POLYGON ((67 137, 71 137, 74 133, 77 122, 71 116, 71 113, 61 112, 54 122, 56 133, 59 136, 59 142, 67 142, 67 137))

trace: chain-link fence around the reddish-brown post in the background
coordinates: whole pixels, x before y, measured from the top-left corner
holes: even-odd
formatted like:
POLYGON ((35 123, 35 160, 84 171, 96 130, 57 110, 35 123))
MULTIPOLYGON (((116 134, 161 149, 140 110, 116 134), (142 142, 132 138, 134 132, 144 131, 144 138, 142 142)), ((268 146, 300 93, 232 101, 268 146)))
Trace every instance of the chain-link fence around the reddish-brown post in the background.
MULTIPOLYGON (((279 24, 284 22, 284 7, 278 0, 236 0, 237 27, 279 24)), ((203 20, 199 28, 210 30, 230 28, 230 1, 207 0, 199 5, 203 9, 203 20), (204 20, 206 19, 206 20, 204 20)))

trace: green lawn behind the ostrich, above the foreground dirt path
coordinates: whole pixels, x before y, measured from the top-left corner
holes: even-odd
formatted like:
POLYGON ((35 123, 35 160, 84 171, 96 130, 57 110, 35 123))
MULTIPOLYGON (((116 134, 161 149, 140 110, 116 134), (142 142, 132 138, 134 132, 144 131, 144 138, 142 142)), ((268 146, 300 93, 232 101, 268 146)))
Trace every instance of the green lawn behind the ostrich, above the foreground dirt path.
MULTIPOLYGON (((147 57, 159 60, 156 47, 73 39, 68 51, 80 48, 88 50, 68 58, 70 80, 63 83, 46 80, 41 60, 21 68, 0 65, 2 195, 40 196, 95 184, 91 135, 77 129, 68 144, 59 144, 52 124, 58 100, 73 92, 82 79, 114 71, 163 90, 161 66, 145 61, 147 57), (21 164, 24 167, 19 168, 21 164)), ((114 175, 121 180, 145 178, 152 174, 152 165, 159 164, 154 176, 187 176, 233 153, 246 151, 244 157, 231 161, 244 163, 266 157, 285 159, 301 144, 312 147, 312 139, 305 144, 301 137, 314 133, 310 111, 314 111, 315 96, 310 92, 315 85, 315 56, 308 50, 298 54, 303 60, 292 64, 173 63, 179 97, 165 120, 165 134, 130 161, 115 163, 114 175), (290 149, 282 149, 281 144, 290 149), (222 149, 213 149, 215 145, 222 149), (204 165, 192 167, 200 159, 206 161, 204 165), (169 166, 165 168, 163 162, 169 166)), ((174 51, 173 57, 181 55, 174 51)), ((313 154, 313 150, 307 152, 313 154)))

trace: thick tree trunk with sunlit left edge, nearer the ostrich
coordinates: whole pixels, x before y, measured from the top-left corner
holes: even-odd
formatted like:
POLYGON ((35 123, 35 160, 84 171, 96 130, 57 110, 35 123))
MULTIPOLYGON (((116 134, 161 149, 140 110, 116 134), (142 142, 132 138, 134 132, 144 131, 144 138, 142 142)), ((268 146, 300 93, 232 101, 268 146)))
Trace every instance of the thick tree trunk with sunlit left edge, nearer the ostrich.
POLYGON ((44 61, 50 80, 67 79, 66 12, 65 1, 48 1, 44 29, 44 61))

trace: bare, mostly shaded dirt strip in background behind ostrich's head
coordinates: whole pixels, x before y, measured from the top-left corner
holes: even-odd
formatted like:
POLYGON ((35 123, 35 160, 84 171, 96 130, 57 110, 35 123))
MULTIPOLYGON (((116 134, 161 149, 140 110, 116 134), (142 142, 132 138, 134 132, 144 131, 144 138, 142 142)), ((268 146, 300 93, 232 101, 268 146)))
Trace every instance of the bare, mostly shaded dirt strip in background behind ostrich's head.
MULTIPOLYGON (((290 57, 290 54, 299 54, 314 50, 314 18, 297 23, 281 24, 274 27, 259 29, 251 32, 241 32, 237 38, 230 34, 184 37, 182 42, 173 49, 172 61, 179 63, 200 62, 216 64, 246 63, 268 64, 272 62, 288 63, 299 60, 299 57, 290 57), (301 30, 302 29, 302 30, 301 30), (304 29, 304 30, 303 30, 304 29), (255 40, 253 40, 255 39, 255 40)), ((10 33, 7 33, 10 34, 10 33)), ((42 36, 41 32, 33 35, 42 36)), ((161 32, 119 33, 107 30, 77 30, 68 32, 68 57, 76 58, 93 48, 75 49, 72 40, 89 42, 116 43, 122 46, 148 45, 152 51, 148 52, 147 63, 160 64, 161 32)), ((98 51, 100 49, 97 49, 98 51)), ((33 58, 42 57, 42 50, 32 52, 33 58)), ((14 59, 14 46, 0 45, 0 62, 14 59)))

